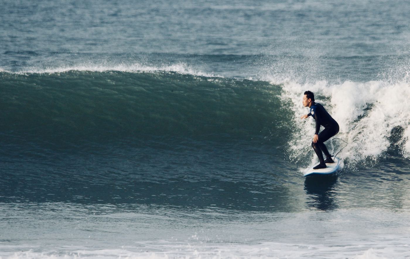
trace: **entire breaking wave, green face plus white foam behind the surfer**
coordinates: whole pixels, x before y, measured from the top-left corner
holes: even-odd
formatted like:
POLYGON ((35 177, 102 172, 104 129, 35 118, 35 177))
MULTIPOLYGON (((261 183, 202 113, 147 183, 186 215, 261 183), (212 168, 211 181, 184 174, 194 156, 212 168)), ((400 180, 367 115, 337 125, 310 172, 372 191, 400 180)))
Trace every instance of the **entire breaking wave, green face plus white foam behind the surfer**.
MULTIPOLYGON (((280 146, 296 161, 310 156, 313 120, 301 93, 320 93, 348 146, 342 158, 377 158, 392 147, 409 157, 409 84, 255 81, 173 71, 1 72, 3 142, 68 147, 145 145, 188 138, 280 146), (132 141, 130 141, 132 140, 132 141), (142 144, 141 144, 142 143, 142 144)), ((344 144, 331 141, 336 152, 344 144)))

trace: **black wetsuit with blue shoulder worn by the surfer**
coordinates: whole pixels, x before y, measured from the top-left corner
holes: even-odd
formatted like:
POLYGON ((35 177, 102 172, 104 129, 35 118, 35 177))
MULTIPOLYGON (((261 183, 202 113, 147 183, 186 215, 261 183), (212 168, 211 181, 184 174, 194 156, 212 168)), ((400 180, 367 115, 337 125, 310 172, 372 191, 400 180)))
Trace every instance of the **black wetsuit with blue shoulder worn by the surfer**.
POLYGON ((314 134, 319 134, 319 140, 317 143, 312 142, 312 147, 314 152, 319 157, 319 161, 321 165, 325 165, 325 161, 323 160, 323 154, 325 154, 326 158, 330 158, 328 149, 326 148, 323 142, 327 141, 329 138, 335 136, 337 132, 339 132, 339 124, 326 112, 325 108, 319 103, 313 103, 310 106, 310 113, 307 116, 312 116, 316 121, 316 131, 314 134), (320 125, 325 127, 320 133, 320 125))

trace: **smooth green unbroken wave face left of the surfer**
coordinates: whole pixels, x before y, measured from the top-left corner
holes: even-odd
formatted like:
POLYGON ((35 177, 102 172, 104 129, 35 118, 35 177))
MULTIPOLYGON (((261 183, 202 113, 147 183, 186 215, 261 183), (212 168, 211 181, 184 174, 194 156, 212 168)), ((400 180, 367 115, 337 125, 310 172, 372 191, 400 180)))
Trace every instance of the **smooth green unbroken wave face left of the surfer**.
POLYGON ((30 141, 249 138, 283 132, 276 125, 290 114, 267 82, 173 72, 1 76, 3 134, 30 141))

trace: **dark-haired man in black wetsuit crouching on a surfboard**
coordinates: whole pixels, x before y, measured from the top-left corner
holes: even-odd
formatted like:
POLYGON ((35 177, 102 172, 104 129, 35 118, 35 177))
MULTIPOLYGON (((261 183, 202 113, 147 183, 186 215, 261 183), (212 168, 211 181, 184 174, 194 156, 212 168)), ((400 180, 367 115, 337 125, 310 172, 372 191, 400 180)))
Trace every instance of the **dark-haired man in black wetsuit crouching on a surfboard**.
POLYGON ((321 104, 314 102, 314 94, 312 92, 306 91, 303 94, 302 103, 304 107, 310 108, 310 113, 301 116, 301 119, 312 116, 316 121, 316 131, 314 132, 312 147, 320 163, 313 167, 313 169, 326 168, 326 163, 333 163, 333 159, 323 142, 339 132, 339 124, 326 112, 326 109, 321 104), (319 133, 320 125, 325 127, 325 129, 319 133), (322 152, 325 154, 326 160, 323 160, 322 152))

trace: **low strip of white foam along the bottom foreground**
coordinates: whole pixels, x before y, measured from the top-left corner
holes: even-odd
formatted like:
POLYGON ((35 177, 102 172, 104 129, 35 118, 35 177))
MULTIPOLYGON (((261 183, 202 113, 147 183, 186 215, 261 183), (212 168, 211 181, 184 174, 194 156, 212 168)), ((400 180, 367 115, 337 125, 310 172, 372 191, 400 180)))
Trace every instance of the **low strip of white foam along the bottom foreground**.
POLYGON ((331 257, 331 258, 387 258, 386 256, 405 256, 408 247, 404 244, 374 245, 369 248, 366 245, 357 246, 326 246, 321 244, 296 244, 296 243, 230 243, 230 244, 189 244, 169 243, 167 246, 158 248, 144 248, 133 251, 132 248, 83 250, 73 249, 67 251, 53 250, 49 252, 34 252, 32 250, 2 253, 4 259, 56 259, 56 258, 124 258, 124 259, 222 259, 222 258, 307 258, 307 257, 331 257), (386 246, 387 245, 387 246, 386 246))

